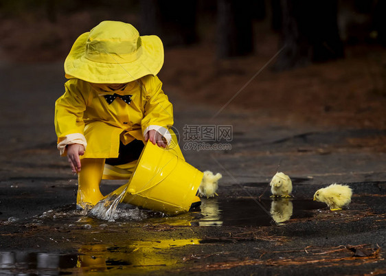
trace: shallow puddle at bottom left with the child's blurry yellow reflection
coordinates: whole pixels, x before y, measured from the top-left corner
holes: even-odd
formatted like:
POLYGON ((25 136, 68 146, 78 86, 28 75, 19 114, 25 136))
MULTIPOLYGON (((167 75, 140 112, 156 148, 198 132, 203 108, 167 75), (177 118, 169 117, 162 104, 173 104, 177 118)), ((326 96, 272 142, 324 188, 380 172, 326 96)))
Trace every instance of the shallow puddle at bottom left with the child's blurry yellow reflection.
POLYGON ((149 273, 181 262, 168 250, 198 244, 198 239, 138 240, 112 244, 84 244, 76 253, 0 252, 1 275, 63 275, 149 273))

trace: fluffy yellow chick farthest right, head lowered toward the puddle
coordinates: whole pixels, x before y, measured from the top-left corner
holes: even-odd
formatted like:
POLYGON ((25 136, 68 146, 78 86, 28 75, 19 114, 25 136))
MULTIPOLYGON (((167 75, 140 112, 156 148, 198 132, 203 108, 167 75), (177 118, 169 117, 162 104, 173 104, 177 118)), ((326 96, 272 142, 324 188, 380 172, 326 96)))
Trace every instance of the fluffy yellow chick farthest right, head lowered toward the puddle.
POLYGON ((341 210, 343 206, 350 204, 352 189, 348 185, 331 184, 328 187, 318 189, 314 194, 314 200, 326 203, 331 211, 341 210))

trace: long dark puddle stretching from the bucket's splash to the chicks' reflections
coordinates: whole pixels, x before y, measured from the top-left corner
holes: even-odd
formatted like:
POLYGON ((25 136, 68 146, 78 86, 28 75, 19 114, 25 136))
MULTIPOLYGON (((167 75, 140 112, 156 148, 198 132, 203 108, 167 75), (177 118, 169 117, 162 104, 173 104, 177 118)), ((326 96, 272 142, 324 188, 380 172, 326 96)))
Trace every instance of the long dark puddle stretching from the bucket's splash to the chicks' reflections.
POLYGON ((70 205, 63 209, 45 211, 41 216, 35 216, 32 222, 41 225, 60 220, 70 226, 86 222, 97 225, 104 225, 105 222, 137 222, 139 225, 258 227, 274 225, 274 222, 280 224, 291 218, 308 218, 313 216, 312 210, 325 209, 326 205, 294 198, 263 199, 260 205, 249 197, 201 198, 201 206, 197 211, 178 216, 166 216, 161 212, 118 203, 117 198, 101 202, 95 207, 91 211, 80 211, 70 205))

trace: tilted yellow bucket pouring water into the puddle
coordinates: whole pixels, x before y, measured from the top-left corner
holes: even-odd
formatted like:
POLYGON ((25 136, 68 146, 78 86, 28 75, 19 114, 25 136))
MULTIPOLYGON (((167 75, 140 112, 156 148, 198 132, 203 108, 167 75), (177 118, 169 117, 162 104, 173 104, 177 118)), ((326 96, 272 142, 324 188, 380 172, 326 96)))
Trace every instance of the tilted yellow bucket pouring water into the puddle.
POLYGON ((166 214, 189 211, 199 203, 196 192, 203 172, 185 162, 177 150, 146 143, 123 201, 166 214))

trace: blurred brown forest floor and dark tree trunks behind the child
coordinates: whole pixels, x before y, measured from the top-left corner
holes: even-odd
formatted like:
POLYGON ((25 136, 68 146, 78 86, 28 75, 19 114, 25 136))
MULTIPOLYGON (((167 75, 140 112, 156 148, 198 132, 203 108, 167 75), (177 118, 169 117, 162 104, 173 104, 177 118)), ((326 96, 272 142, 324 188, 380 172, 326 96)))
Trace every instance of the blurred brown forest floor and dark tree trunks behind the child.
POLYGON ((63 62, 103 20, 160 36, 164 87, 192 101, 239 91, 262 121, 386 128, 386 1, 1 0, 0 59, 63 62))

